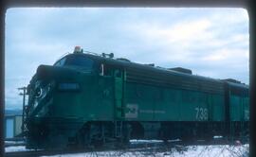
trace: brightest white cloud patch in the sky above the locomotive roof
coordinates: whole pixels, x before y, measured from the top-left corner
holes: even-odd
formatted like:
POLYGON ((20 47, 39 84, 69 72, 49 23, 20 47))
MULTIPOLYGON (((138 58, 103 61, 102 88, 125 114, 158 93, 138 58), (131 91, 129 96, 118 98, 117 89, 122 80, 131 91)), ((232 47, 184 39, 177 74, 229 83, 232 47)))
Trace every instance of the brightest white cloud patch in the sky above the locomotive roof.
POLYGON ((182 22, 173 26, 138 24, 134 31, 139 33, 144 40, 160 41, 163 44, 187 43, 196 40, 195 36, 204 38, 210 21, 202 19, 191 22, 182 22), (203 35, 202 35, 203 34, 203 35))

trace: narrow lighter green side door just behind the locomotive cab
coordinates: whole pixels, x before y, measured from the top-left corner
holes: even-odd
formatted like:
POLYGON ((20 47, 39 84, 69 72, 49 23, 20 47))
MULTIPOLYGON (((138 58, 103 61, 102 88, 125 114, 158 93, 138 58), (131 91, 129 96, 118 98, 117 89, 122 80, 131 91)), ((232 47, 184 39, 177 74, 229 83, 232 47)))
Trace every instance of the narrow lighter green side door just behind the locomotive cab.
POLYGON ((115 116, 116 118, 124 117, 123 106, 123 72, 120 69, 114 70, 114 90, 115 90, 115 116))

